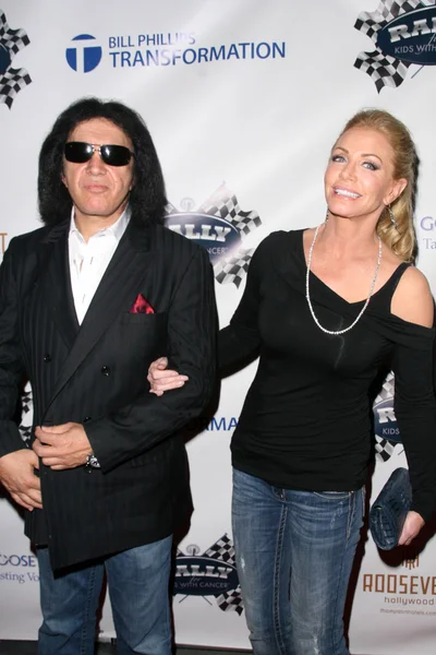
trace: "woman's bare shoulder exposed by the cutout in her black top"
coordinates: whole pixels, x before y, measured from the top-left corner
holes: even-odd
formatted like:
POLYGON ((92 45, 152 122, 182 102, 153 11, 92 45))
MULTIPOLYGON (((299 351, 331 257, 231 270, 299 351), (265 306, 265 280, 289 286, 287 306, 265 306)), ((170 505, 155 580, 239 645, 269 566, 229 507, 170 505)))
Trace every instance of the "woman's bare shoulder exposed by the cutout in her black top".
POLYGON ((433 326, 434 302, 427 278, 414 266, 402 274, 393 294, 391 312, 424 327, 433 326))

